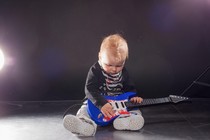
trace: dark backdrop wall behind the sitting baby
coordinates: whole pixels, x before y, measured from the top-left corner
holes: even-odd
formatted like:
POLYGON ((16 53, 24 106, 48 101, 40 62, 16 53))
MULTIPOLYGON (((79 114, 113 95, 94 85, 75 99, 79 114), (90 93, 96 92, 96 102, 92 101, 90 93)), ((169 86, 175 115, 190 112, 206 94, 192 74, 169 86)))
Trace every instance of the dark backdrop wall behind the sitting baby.
MULTIPOLYGON (((209 0, 1 0, 0 100, 80 100, 103 37, 128 41, 142 97, 180 95, 210 66, 209 0)), ((210 71, 200 79, 210 83, 210 71)), ((204 86, 184 95, 210 97, 204 86)))

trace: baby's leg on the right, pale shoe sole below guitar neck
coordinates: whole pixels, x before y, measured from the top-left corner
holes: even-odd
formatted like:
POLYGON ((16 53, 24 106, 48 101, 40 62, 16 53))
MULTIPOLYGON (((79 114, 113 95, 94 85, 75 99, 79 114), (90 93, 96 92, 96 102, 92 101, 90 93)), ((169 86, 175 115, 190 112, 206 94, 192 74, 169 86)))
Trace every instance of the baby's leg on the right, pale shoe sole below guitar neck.
POLYGON ((141 111, 132 110, 131 115, 120 115, 113 122, 113 126, 117 130, 140 130, 144 126, 144 118, 141 111))

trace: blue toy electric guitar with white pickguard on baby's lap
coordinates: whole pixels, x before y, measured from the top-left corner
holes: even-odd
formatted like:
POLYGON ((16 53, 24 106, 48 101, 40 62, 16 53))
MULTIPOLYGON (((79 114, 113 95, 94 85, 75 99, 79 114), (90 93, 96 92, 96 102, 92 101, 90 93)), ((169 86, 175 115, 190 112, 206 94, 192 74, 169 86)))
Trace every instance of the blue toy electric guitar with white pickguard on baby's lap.
POLYGON ((143 99, 141 103, 132 103, 129 102, 129 99, 136 96, 134 92, 126 92, 119 96, 105 96, 107 101, 112 105, 113 110, 115 110, 115 115, 111 118, 105 117, 102 112, 88 99, 87 102, 87 111, 93 121, 100 126, 106 126, 113 122, 115 118, 119 115, 126 114, 130 115, 129 109, 146 106, 146 105, 154 105, 154 104, 162 104, 162 103, 178 103, 180 101, 186 101, 189 98, 170 95, 169 97, 164 98, 155 98, 155 99, 143 99))

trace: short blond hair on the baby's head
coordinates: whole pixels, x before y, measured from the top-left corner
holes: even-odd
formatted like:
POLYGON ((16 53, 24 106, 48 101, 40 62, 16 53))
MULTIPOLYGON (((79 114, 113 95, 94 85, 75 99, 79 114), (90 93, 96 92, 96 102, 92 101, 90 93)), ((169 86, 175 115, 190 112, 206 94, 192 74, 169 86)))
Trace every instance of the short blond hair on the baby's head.
POLYGON ((108 53, 116 58, 116 61, 125 61, 128 58, 128 45, 119 34, 105 37, 101 43, 100 53, 108 53))

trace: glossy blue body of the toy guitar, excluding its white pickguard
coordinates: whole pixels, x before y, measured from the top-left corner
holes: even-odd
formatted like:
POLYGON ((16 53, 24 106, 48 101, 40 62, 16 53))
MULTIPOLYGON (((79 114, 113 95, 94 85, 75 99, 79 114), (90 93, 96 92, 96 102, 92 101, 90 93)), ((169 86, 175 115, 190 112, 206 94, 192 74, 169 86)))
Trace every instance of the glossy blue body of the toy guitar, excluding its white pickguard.
MULTIPOLYGON (((118 96, 105 96, 105 98, 108 102, 113 103, 113 104, 119 101, 121 105, 122 104, 121 101, 126 102, 134 96, 136 96, 135 92, 126 92, 118 96)), ((107 118, 107 117, 104 117, 100 109, 98 109, 89 99, 87 101, 87 105, 88 105, 87 111, 91 119, 100 126, 106 126, 112 123, 114 119, 116 119, 121 114, 129 114, 129 112, 127 111, 127 108, 124 105, 122 105, 122 107, 118 109, 118 111, 116 111, 115 116, 113 116, 112 118, 107 118)))

